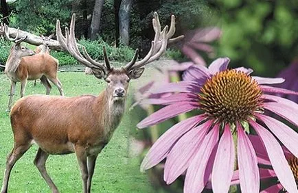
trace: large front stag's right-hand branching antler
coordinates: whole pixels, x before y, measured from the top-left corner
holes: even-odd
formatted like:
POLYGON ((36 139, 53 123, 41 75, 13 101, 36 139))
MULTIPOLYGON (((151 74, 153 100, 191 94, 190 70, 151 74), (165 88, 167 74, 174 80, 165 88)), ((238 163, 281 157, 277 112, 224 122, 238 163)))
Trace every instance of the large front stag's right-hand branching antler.
POLYGON ((176 42, 184 38, 184 36, 179 36, 176 38, 172 38, 172 36, 175 33, 175 16, 171 16, 171 25, 170 29, 168 29, 168 25, 163 28, 161 31, 161 23, 159 22, 159 15, 157 12, 154 12, 154 18, 152 19, 152 25, 153 29, 155 31, 154 40, 151 42, 151 48, 146 57, 143 58, 143 60, 137 61, 137 54, 138 49, 135 51, 135 56, 133 57, 133 60, 131 60, 126 66, 124 66, 124 69, 126 70, 133 70, 136 68, 141 68, 142 66, 145 66, 146 64, 157 60, 161 54, 165 51, 168 42, 176 42))

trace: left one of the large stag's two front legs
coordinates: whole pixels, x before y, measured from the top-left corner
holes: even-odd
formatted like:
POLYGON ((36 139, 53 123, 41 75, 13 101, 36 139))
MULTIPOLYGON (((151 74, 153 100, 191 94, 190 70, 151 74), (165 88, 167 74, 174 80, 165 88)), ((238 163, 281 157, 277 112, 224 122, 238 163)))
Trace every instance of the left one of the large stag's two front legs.
POLYGON ((75 146, 75 151, 82 175, 83 192, 87 193, 88 168, 86 151, 82 146, 75 146))

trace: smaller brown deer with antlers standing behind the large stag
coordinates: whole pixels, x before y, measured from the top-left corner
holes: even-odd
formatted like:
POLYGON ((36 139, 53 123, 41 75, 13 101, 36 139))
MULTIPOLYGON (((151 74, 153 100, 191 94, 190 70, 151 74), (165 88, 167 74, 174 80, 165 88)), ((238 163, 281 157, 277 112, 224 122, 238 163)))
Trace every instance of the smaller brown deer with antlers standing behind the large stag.
POLYGON ((49 94, 51 85, 48 79, 54 83, 60 95, 63 96, 62 84, 57 78, 58 60, 48 53, 34 54, 34 51, 27 49, 21 45, 21 42, 27 38, 12 39, 8 33, 8 26, 1 26, 1 34, 4 34, 8 40, 13 41, 15 44, 10 49, 10 55, 5 64, 5 74, 11 80, 10 86, 10 99, 8 101, 8 111, 12 105, 12 97, 15 92, 16 82, 21 82, 21 97, 24 96, 25 86, 27 80, 41 79, 41 83, 45 86, 49 94))

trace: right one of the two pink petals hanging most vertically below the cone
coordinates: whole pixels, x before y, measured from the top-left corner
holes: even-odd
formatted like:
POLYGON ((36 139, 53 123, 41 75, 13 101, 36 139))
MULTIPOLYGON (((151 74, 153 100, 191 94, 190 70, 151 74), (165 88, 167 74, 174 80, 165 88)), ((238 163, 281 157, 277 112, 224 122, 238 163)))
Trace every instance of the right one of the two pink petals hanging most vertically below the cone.
POLYGON ((238 131, 238 166, 241 192, 259 192, 260 174, 257 167, 257 156, 251 141, 244 133, 240 124, 237 124, 238 131))

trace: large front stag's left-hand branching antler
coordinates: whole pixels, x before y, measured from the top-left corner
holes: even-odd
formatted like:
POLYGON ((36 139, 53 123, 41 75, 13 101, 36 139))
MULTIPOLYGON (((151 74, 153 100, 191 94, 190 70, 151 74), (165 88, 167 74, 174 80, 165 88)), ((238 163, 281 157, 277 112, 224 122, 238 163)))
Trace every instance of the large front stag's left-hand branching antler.
MULTIPOLYGON (((75 38, 75 32, 74 32, 75 23, 76 23, 76 14, 73 14, 71 17, 70 28, 68 29, 67 27, 65 27, 65 37, 64 37, 61 32, 60 21, 57 20, 56 34, 61 47, 65 49, 65 51, 68 51, 81 64, 84 64, 89 68, 100 68, 102 71, 104 71, 104 73, 108 73, 108 71, 111 70, 110 66, 108 66, 109 65, 108 62, 106 62, 106 66, 104 66, 99 62, 96 62, 90 57, 90 55, 87 53, 87 50, 84 46, 82 46, 84 57, 80 53, 78 49, 78 43, 76 42, 76 38, 75 38)), ((105 50, 104 50, 104 60, 108 61, 105 50)))

